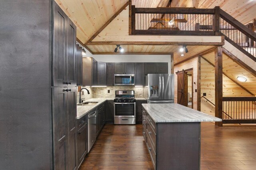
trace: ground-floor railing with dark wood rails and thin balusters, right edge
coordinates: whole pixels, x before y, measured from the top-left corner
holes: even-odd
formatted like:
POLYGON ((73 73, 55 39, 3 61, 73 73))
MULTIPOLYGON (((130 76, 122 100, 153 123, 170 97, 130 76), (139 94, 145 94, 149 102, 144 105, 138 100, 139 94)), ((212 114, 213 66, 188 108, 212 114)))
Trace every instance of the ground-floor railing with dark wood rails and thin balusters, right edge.
POLYGON ((223 123, 256 123, 256 97, 223 97, 223 123))

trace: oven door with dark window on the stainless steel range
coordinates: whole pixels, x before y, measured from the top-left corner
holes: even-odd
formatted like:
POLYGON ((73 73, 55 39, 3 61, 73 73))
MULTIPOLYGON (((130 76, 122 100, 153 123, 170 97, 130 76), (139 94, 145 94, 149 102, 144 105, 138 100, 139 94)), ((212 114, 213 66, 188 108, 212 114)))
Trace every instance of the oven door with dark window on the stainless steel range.
POLYGON ((136 104, 134 103, 114 103, 114 118, 135 118, 136 104))

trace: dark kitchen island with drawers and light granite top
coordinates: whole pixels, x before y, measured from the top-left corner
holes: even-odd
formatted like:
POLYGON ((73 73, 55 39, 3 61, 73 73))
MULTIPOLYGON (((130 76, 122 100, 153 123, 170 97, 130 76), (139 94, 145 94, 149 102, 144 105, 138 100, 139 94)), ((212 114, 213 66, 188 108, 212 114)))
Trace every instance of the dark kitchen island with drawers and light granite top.
POLYGON ((179 104, 142 104, 143 136, 158 170, 200 169, 200 124, 222 121, 179 104))

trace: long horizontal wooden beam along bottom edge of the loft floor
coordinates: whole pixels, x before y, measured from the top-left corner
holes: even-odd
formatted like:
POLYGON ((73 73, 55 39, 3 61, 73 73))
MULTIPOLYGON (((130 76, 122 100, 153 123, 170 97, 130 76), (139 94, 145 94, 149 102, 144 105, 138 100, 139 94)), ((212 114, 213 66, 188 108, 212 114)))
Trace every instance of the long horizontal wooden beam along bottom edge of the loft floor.
POLYGON ((224 45, 223 42, 88 42, 86 45, 224 45))

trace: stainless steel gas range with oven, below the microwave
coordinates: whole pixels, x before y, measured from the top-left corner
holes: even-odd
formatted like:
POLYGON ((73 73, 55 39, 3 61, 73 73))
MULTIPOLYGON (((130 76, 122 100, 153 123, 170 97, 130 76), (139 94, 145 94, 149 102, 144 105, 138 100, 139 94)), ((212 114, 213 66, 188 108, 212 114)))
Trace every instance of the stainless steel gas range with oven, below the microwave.
POLYGON ((114 99, 114 124, 134 125, 136 123, 136 100, 134 91, 116 91, 114 99))

